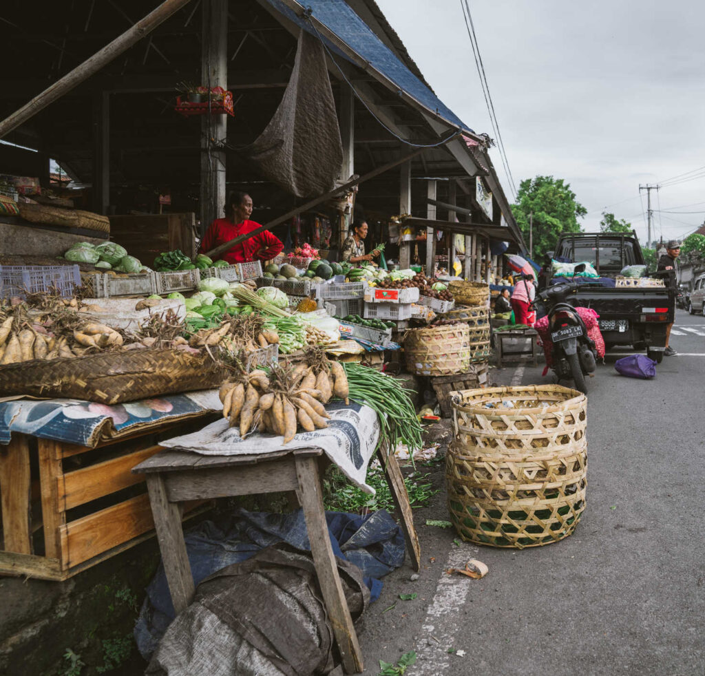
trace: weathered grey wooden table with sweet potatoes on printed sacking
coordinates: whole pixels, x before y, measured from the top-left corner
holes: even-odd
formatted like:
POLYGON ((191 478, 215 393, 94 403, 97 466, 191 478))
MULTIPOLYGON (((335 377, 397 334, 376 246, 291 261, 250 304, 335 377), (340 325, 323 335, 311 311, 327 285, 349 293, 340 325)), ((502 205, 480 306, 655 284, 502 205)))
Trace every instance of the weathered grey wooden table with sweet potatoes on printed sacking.
MULTIPOLYGON (((401 470, 393 453, 387 459, 383 448, 379 450, 378 457, 402 518, 412 565, 419 570, 419 541, 401 470)), ((314 566, 341 652, 343 668, 348 673, 359 673, 363 668, 362 653, 338 577, 326 524, 319 473, 321 460, 324 460, 324 455, 319 448, 258 455, 199 455, 164 450, 134 467, 133 472, 144 473, 147 477, 161 558, 176 613, 185 610, 195 594, 178 503, 183 500, 293 491, 303 508, 314 566)))

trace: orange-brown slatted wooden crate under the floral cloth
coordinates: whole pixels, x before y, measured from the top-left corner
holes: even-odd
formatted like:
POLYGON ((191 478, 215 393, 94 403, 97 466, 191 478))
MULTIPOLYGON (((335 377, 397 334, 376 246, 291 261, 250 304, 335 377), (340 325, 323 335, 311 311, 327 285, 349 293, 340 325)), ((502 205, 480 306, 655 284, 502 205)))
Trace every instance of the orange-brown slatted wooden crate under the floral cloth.
POLYGON ((0 446, 0 575, 67 579, 154 535, 144 477, 130 470, 162 450, 159 439, 207 422, 168 422, 96 448, 13 434, 0 446))

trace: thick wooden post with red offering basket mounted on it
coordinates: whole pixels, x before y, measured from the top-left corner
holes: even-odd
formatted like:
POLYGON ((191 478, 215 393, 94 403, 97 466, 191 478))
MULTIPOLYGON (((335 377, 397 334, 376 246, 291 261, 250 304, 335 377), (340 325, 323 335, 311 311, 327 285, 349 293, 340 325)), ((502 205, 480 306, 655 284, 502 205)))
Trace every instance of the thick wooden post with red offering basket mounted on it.
MULTIPOLYGON (((228 88, 228 0, 202 0, 201 82, 228 88)), ((201 118, 201 235, 223 214, 226 201, 227 115, 201 118), (217 147, 216 147, 217 146, 217 147)))

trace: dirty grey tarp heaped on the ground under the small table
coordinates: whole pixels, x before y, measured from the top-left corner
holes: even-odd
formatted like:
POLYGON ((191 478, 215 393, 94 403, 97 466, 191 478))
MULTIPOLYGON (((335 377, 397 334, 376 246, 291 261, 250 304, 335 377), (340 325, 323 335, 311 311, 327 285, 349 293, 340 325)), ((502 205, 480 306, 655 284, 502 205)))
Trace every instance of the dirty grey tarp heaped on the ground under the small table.
MULTIPOLYGON (((369 591, 357 566, 337 563, 355 620, 369 591)), ((280 544, 205 579, 171 623, 147 674, 331 674, 334 641, 310 555, 280 544)))

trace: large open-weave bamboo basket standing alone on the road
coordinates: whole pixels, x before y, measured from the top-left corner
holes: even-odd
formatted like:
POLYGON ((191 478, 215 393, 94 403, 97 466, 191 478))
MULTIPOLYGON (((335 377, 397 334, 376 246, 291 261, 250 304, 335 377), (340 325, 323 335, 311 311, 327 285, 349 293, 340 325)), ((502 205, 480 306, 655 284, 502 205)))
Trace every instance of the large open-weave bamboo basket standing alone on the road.
POLYGON ((585 395, 540 385, 451 398, 448 511, 462 539, 523 549, 572 534, 587 487, 585 395))

